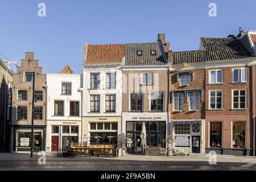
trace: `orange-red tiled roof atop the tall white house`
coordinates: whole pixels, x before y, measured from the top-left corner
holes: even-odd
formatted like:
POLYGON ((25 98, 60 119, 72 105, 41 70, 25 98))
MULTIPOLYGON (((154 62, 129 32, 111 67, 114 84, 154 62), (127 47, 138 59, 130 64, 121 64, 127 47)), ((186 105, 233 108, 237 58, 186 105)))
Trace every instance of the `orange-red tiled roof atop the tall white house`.
POLYGON ((125 57, 124 44, 89 45, 85 64, 121 63, 125 57))

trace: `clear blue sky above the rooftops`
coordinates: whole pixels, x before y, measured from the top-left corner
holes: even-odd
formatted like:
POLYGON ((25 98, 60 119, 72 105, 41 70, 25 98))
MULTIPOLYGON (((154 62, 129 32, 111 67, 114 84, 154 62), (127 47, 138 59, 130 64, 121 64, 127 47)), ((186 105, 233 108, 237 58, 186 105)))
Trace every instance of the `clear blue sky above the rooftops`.
POLYGON ((255 0, 1 0, 0 52, 14 61, 35 52, 44 73, 67 64, 82 73, 85 42, 156 42, 165 33, 172 51, 198 49, 201 36, 256 30, 255 8, 255 0), (41 2, 46 17, 38 16, 41 2), (211 2, 217 17, 208 14, 211 2))

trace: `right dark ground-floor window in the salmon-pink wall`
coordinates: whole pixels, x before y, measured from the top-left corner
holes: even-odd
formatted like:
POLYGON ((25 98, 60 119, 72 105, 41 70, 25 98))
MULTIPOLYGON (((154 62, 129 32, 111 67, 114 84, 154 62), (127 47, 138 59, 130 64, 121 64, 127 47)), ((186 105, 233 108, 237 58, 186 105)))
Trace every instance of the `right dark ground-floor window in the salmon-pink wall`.
POLYGON ((245 122, 233 122, 233 148, 245 148, 245 122))

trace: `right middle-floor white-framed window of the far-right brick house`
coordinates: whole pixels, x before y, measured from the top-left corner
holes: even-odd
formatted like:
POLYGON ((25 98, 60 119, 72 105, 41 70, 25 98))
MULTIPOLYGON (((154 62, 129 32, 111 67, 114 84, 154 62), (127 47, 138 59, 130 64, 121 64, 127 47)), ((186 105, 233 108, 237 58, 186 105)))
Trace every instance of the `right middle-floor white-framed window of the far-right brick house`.
POLYGON ((233 90, 233 108, 246 109, 246 90, 233 90))

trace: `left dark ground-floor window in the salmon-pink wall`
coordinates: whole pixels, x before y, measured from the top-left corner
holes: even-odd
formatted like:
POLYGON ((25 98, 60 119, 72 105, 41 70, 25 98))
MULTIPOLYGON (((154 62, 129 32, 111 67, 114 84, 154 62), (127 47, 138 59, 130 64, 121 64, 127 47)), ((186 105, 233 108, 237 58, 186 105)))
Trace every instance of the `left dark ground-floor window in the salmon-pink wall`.
POLYGON ((222 122, 210 122, 210 147, 222 146, 222 122))

